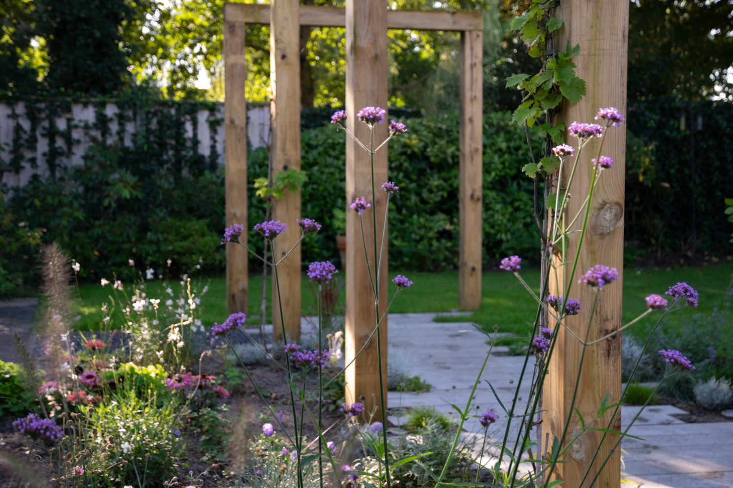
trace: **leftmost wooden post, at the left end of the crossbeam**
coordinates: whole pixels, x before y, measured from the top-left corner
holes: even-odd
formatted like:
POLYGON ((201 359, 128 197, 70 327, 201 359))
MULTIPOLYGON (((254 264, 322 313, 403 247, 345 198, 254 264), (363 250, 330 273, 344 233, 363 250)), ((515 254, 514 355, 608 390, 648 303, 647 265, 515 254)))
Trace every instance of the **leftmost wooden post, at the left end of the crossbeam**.
MULTIPOLYGON (((226 226, 243 224, 247 229, 247 107, 244 86, 247 66, 244 53, 244 22, 226 20, 224 9, 224 127, 226 131, 225 191, 226 226)), ((247 243, 246 231, 240 240, 247 243)), ((226 309, 247 312, 248 253, 243 247, 226 246, 226 309)))

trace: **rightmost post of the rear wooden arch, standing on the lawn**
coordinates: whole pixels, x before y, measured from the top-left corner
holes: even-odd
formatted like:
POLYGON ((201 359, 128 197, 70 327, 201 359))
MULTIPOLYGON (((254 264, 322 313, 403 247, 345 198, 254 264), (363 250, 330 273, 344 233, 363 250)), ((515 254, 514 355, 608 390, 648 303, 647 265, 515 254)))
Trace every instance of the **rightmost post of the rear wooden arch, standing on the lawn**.
POLYGON ((483 31, 464 31, 460 37, 460 307, 481 307, 481 241, 484 154, 483 31))

